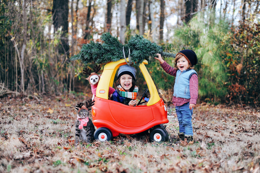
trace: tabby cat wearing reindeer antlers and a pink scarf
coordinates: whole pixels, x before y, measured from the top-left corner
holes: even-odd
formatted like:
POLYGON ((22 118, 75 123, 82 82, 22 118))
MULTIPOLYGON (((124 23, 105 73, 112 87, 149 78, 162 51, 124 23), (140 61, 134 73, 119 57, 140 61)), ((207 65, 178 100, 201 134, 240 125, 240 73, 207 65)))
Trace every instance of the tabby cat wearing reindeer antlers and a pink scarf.
POLYGON ((95 127, 89 119, 89 110, 88 107, 91 107, 94 105, 95 101, 92 101, 91 99, 86 101, 86 106, 83 106, 84 103, 79 103, 77 104, 76 108, 78 110, 77 114, 77 120, 75 122, 75 127, 76 127, 76 133, 75 133, 75 145, 77 146, 80 140, 83 140, 87 143, 90 143, 91 141, 94 140, 94 132, 95 132, 95 127))

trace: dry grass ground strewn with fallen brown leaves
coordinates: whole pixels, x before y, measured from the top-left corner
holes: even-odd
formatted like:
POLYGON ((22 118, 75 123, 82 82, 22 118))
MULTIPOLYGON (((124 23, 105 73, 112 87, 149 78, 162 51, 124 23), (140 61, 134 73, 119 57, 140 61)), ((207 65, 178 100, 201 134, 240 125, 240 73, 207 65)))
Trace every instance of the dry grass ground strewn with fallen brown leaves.
POLYGON ((259 109, 198 104, 190 145, 172 143, 178 121, 169 106, 169 142, 120 134, 74 147, 74 106, 86 99, 1 98, 0 172, 260 172, 259 109))

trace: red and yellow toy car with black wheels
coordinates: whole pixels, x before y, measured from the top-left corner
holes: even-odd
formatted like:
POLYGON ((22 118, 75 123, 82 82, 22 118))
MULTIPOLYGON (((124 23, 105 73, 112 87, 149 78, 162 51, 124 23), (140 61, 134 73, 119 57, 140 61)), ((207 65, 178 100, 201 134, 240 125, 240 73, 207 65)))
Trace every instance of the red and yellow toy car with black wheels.
POLYGON ((95 104, 92 106, 93 124, 97 127, 94 138, 105 141, 111 140, 119 133, 135 134, 149 130, 150 140, 168 141, 168 132, 163 125, 169 122, 166 106, 144 65, 148 64, 146 60, 139 65, 139 68, 147 82, 151 96, 148 98, 148 89, 146 89, 137 106, 134 107, 108 99, 109 86, 113 87, 116 71, 119 66, 124 64, 126 61, 121 59, 109 62, 104 66, 96 90, 95 104), (144 101, 142 102, 142 100, 144 101), (140 105, 146 102, 146 105, 140 105))

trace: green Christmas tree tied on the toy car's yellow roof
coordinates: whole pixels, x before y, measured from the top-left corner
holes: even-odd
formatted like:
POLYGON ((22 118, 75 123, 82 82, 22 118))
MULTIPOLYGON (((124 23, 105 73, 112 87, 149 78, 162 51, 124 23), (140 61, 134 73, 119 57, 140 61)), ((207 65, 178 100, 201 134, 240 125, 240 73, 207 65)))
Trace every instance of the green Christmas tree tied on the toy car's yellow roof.
POLYGON ((89 63, 107 63, 115 62, 129 56, 130 48, 130 61, 134 65, 139 65, 144 60, 148 62, 149 57, 155 57, 160 53, 165 57, 175 58, 176 54, 167 53, 162 51, 162 47, 155 43, 151 43, 142 35, 131 36, 128 44, 123 45, 116 37, 110 33, 103 33, 101 39, 103 44, 91 41, 89 44, 83 44, 80 52, 70 58, 71 61, 81 60, 85 65, 89 63), (123 54, 124 51, 124 54, 123 54))

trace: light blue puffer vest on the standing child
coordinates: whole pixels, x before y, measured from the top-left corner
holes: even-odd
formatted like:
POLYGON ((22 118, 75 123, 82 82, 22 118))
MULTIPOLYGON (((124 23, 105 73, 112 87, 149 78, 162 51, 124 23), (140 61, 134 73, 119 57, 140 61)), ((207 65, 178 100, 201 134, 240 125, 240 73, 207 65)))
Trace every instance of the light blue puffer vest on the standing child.
POLYGON ((197 74, 197 72, 193 69, 177 70, 175 84, 173 88, 173 96, 175 97, 182 97, 185 99, 190 99, 190 78, 191 75, 197 74))

